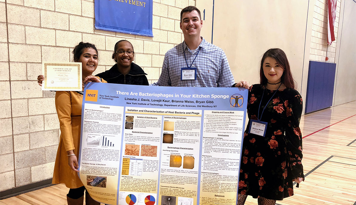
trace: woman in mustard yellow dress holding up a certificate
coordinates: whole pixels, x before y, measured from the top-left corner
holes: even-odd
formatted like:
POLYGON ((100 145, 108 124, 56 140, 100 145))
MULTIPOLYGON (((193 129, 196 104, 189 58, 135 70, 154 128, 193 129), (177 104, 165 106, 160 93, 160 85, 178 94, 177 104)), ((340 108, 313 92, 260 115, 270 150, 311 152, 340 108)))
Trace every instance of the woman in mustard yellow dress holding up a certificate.
MULTIPOLYGON (((80 42, 73 50, 74 61, 82 63, 83 82, 106 82, 92 76, 98 66, 98 51, 91 43, 80 42)), ((84 90, 84 83, 83 83, 84 90)), ((64 183, 69 188, 68 205, 83 205, 84 185, 78 176, 78 155, 80 126, 82 117, 83 91, 57 91, 56 109, 61 129, 56 163, 54 164, 53 184, 64 183)), ((100 204, 85 193, 86 205, 100 204)))

